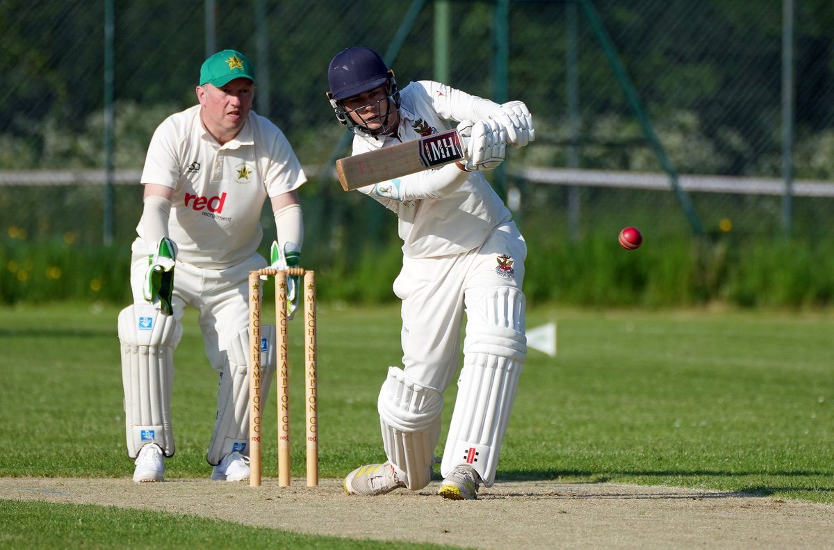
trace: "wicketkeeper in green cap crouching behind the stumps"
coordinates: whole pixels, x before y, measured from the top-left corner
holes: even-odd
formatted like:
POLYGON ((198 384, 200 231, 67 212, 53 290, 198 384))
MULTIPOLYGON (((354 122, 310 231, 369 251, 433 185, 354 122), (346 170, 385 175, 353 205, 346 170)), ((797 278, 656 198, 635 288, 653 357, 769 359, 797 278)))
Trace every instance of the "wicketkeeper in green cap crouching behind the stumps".
MULTIPOLYGON (((162 482, 164 458, 173 456, 173 352, 187 307, 198 311, 203 347, 219 376, 211 478, 249 479, 249 271, 267 265, 257 251, 267 199, 278 235, 273 267, 299 265, 297 189, 306 181, 281 130, 251 110, 256 86, 243 53, 215 53, 200 68, 198 104, 165 119, 148 146, 130 266, 133 305, 118 315, 134 482, 162 482)), ((294 282, 290 314, 298 305, 294 282)), ((265 396, 276 365, 274 327, 261 327, 260 352, 265 396)))

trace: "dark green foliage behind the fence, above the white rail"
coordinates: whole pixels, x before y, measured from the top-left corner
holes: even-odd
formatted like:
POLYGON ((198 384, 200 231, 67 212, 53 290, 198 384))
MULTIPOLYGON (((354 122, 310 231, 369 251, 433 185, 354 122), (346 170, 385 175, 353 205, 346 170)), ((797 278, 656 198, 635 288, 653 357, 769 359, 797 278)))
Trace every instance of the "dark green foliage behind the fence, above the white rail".
MULTIPOLYGON (((264 75, 259 91, 266 103, 257 103, 258 108, 284 129, 308 164, 324 162, 340 135, 324 100, 326 68, 334 53, 356 44, 380 53, 394 48, 390 53, 400 83, 434 75, 432 2, 425 2, 414 21, 406 19, 412 5, 406 2, 379 0, 361 7, 336 0, 264 2, 261 22, 256 21, 254 4, 217 3, 216 49, 238 48, 254 58, 264 75), (265 33, 259 34, 259 28, 265 33), (400 32, 406 38, 398 42, 400 32)), ((682 119, 691 120, 687 124, 698 141, 706 142, 704 150, 721 152, 721 162, 705 169, 725 174, 771 169, 770 158, 780 149, 781 6, 773 0, 593 4, 656 124, 680 129, 682 119)), ((139 166, 135 152, 146 146, 152 125, 133 124, 127 117, 148 114, 145 120, 156 119, 159 106, 176 109, 194 102, 193 88, 206 54, 205 3, 145 0, 115 3, 115 8, 115 97, 118 108, 135 106, 117 114, 125 126, 118 131, 117 149, 130 152, 121 155, 124 162, 139 166)), ((566 115, 571 8, 579 13, 576 71, 582 139, 616 154, 611 144, 629 147, 641 136, 630 130, 633 114, 582 16, 581 2, 510 3, 510 96, 523 98, 537 115, 540 145, 564 144, 569 138, 561 121, 566 115), (615 119, 621 123, 600 135, 603 121, 615 119)), ((58 151, 55 140, 80 136, 80 142, 100 141, 92 135, 100 126, 91 120, 100 118, 103 108, 103 12, 103 3, 78 0, 0 3, 0 71, 5 77, 0 141, 13 151, 0 155, 0 168, 102 164, 101 154, 79 153, 81 144, 58 151)), ((451 3, 451 12, 450 84, 490 97, 495 89, 495 4, 461 0, 451 3)), ((796 124, 800 139, 811 143, 834 126, 831 28, 831 2, 796 4, 796 124)), ((800 149, 813 147, 802 143, 800 149)), ((592 147, 583 154, 585 165, 597 162, 592 147)), ((686 147, 676 155, 686 157, 686 147)), ((551 161, 563 157, 560 149, 551 161)), ((622 168, 635 162, 631 152, 626 157, 622 168)), ((696 167, 701 159, 682 162, 696 167)), ((798 169, 821 174, 818 164, 798 169)))

